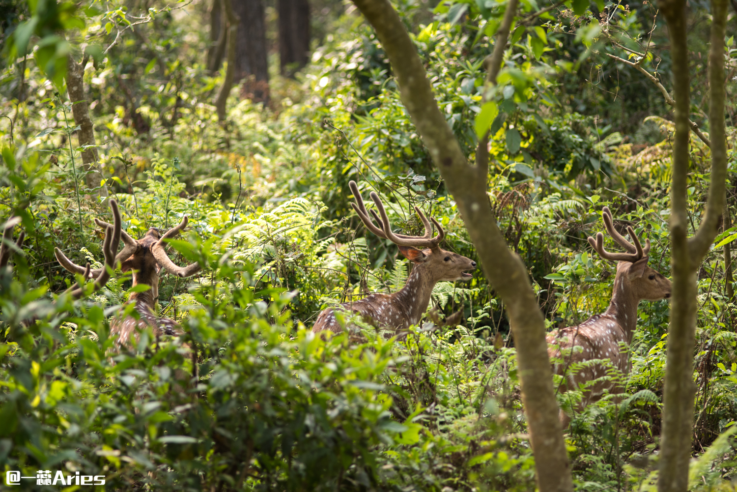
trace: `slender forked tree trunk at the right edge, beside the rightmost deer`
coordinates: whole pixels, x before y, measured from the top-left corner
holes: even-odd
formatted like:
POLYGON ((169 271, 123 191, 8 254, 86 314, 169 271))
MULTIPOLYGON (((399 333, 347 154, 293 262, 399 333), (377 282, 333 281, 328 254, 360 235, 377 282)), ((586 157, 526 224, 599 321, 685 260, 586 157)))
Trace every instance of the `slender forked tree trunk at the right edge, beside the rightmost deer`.
POLYGON ((694 421, 694 345, 696 333, 696 272, 716 236, 724 207, 727 145, 724 131, 724 30, 727 0, 712 0, 709 53, 709 125, 711 177, 706 215, 699 230, 688 238, 688 114, 691 108, 686 44, 685 0, 660 0, 668 23, 673 60, 676 134, 673 143, 671 195, 671 263, 673 297, 668 330, 666 382, 663 395, 663 432, 660 441, 659 492, 688 489, 688 462, 694 421))

